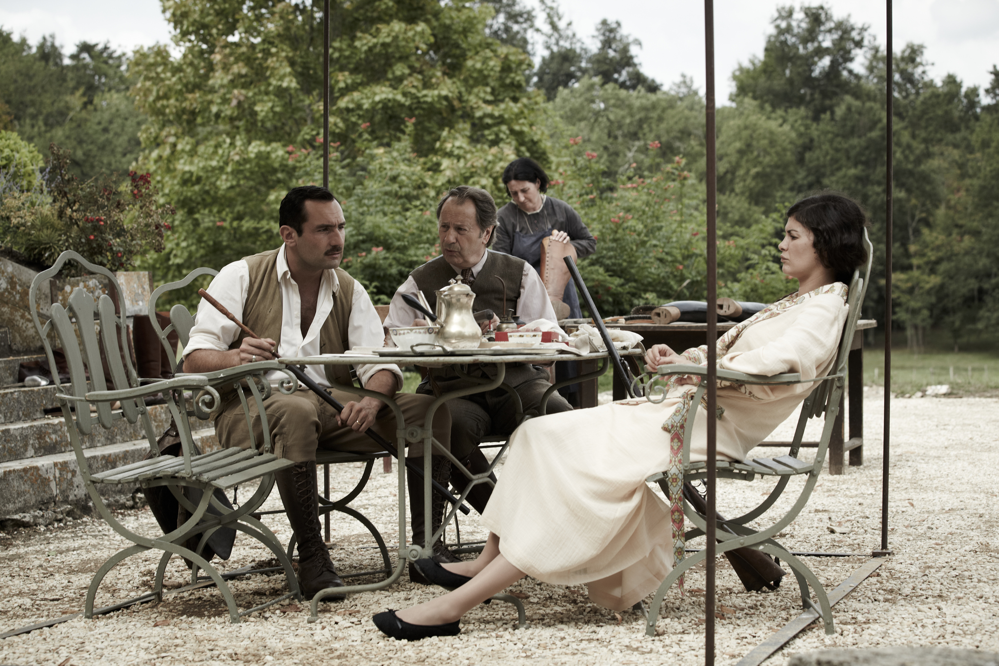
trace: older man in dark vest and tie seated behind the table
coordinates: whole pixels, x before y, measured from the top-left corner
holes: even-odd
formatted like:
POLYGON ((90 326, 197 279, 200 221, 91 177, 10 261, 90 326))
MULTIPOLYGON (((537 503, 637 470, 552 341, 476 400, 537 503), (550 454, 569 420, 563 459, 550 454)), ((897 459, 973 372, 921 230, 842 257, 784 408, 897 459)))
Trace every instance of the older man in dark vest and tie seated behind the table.
MULTIPOLYGON (((423 292, 434 309, 437 304, 435 292, 447 286, 451 280, 458 279, 469 285, 475 293, 474 311, 489 309, 494 313, 502 313, 505 284, 507 309, 512 310, 524 322, 546 320, 557 329, 551 301, 537 272, 522 259, 489 250, 497 229, 497 207, 490 193, 467 185, 459 186, 441 199, 437 216, 442 256, 411 273, 406 283, 396 291, 385 321, 386 328, 426 326, 420 319, 423 316, 403 301, 403 295, 416 296, 418 291, 423 292)), ((485 329, 488 324, 483 326, 485 329)), ((495 366, 471 365, 468 371, 474 377, 490 377, 495 372, 495 366)), ((504 381, 516 391, 523 411, 539 406, 541 396, 551 385, 547 369, 537 365, 507 364, 504 381)), ((433 368, 417 388, 417 392, 433 395, 475 385, 478 382, 460 377, 450 367, 433 368)), ((512 397, 505 389, 497 388, 449 400, 448 407, 452 416, 452 453, 473 473, 487 471, 489 462, 479 449, 479 444, 487 435, 508 435, 519 425, 512 397)), ((548 398, 546 413, 568 411, 571 408, 565 398, 555 392, 548 398)), ((455 468, 451 475, 454 488, 459 492, 464 490, 468 478, 462 470, 455 468)), ((496 481, 495 476, 492 478, 496 481)), ((480 483, 469 494, 469 503, 482 513, 492 493, 492 486, 480 483)), ((435 527, 442 519, 444 501, 441 497, 435 498, 432 514, 435 527)), ((416 524, 417 517, 414 516, 413 519, 416 524)), ((441 563, 458 561, 443 544, 435 544, 434 559, 441 563)), ((415 582, 426 583, 424 576, 412 563, 410 578, 415 582)))

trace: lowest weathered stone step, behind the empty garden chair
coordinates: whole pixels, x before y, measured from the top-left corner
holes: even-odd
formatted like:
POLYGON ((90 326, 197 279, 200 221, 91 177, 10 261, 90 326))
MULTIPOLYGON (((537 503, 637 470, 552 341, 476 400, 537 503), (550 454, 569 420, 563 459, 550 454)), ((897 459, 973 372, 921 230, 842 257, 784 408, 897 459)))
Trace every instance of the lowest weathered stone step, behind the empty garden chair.
MULTIPOLYGON (((218 448, 214 428, 195 433, 195 443, 202 451, 218 448)), ((91 473, 138 462, 149 452, 143 439, 84 449, 91 473)), ((102 496, 124 500, 135 487, 99 485, 102 496)), ((0 516, 13 516, 51 504, 83 504, 89 499, 76 455, 70 451, 52 455, 0 462, 0 516)))

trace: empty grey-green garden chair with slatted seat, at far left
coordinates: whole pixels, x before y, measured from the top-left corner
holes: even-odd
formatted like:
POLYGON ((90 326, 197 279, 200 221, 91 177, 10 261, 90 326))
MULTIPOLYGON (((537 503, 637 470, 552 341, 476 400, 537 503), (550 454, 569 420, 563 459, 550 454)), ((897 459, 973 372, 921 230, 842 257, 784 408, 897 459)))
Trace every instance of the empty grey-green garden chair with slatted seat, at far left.
MULTIPOLYGON (((225 598, 230 618, 234 623, 240 621, 241 615, 266 608, 289 597, 301 598, 292 562, 285 554, 281 543, 270 529, 250 515, 267 497, 267 492, 274 484, 274 472, 291 466, 292 463, 257 447, 249 450, 229 449, 201 455, 193 454, 194 441, 188 415, 196 411, 207 414, 220 406, 219 393, 211 385, 213 379, 205 375, 190 374, 140 385, 140 379, 136 375, 131 359, 127 354, 121 353, 122 349, 128 348, 124 318, 116 314, 115 302, 107 294, 91 295, 84 289, 77 288, 69 297, 68 307, 54 303, 48 315, 40 312, 38 309, 40 289, 43 286, 47 288, 47 281, 57 275, 68 262, 75 262, 86 273, 104 276, 109 282, 110 291, 115 298, 120 299, 122 291, 113 273, 90 264, 75 252, 64 252, 52 268, 38 274, 32 281, 29 297, 31 316, 51 366, 56 366, 53 349, 57 346, 62 347, 69 364, 70 384, 61 383, 58 373, 53 373, 53 381, 58 390, 56 398, 66 420, 70 443, 76 454, 80 478, 104 520, 118 534, 134 544, 112 555, 94 574, 87 592, 84 616, 87 618, 93 616, 94 598, 104 576, 124 559, 149 550, 163 552, 152 592, 153 598, 157 601, 163 599, 163 576, 167 563, 173 555, 180 555, 194 563, 192 582, 197 582, 199 568, 211 576, 225 598), (45 320, 44 325, 43 320, 45 320), (107 362, 110 376, 105 376, 102 356, 107 362), (186 393, 186 391, 192 392, 186 393), (157 445, 159 433, 153 429, 143 399, 157 393, 162 393, 166 398, 167 406, 177 425, 181 455, 160 454, 157 445), (85 441, 90 437, 99 438, 97 428, 111 428, 115 421, 122 418, 130 423, 142 420, 149 440, 151 457, 113 469, 93 470, 85 454, 85 441), (255 479, 261 481, 258 492, 239 509, 233 510, 223 506, 214 497, 216 489, 225 490, 255 479), (101 490, 110 489, 111 486, 134 487, 135 485, 143 488, 168 488, 178 502, 190 511, 190 518, 168 534, 157 533, 147 536, 129 529, 109 510, 101 490), (185 496, 184 488, 201 491, 201 499, 197 504, 185 496), (210 505, 214 513, 206 513, 210 505), (220 527, 238 529, 270 548, 281 562, 290 592, 262 605, 240 611, 225 577, 199 554, 210 533, 220 527), (199 540, 199 535, 201 535, 200 543, 197 548, 192 550, 184 545, 189 539, 199 540)), ((155 322, 155 317, 153 321, 155 322)), ((278 366, 277 363, 273 365, 278 366)), ((256 378, 255 373, 262 374, 257 372, 256 368, 244 370, 244 374, 251 379, 256 378)), ((267 384, 266 381, 264 383, 267 384)), ((251 386, 256 399, 263 399, 265 393, 270 393, 269 384, 261 389, 258 388, 256 381, 251 381, 251 386)), ((295 385, 289 381, 286 388, 292 391, 295 385)))

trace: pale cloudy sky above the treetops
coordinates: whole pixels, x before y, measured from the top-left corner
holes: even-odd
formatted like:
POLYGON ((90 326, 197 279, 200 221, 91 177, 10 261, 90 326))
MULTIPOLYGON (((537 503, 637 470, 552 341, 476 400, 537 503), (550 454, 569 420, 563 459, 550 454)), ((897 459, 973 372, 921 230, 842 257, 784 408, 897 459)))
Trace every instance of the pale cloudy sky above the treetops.
MULTIPOLYGON (((535 0, 527 0, 533 3, 535 0)), ((760 56, 776 7, 800 5, 792 0, 715 0, 715 94, 718 103, 731 92, 732 70, 760 56)), ((810 4, 817 4, 815 3, 810 4)), ((883 2, 825 0, 837 17, 849 15, 870 26, 885 43, 883 2)), ((641 41, 637 52, 642 70, 668 86, 682 74, 704 92, 703 4, 695 0, 562 0, 565 19, 582 37, 600 19, 620 21, 626 34, 641 41)), ((0 26, 36 42, 55 34, 72 49, 80 40, 104 42, 132 50, 169 42, 170 26, 159 0, 0 0, 0 26)), ((930 74, 953 73, 965 85, 988 85, 988 72, 999 65, 999 0, 896 0, 894 41, 898 52, 906 42, 926 46, 930 74)))

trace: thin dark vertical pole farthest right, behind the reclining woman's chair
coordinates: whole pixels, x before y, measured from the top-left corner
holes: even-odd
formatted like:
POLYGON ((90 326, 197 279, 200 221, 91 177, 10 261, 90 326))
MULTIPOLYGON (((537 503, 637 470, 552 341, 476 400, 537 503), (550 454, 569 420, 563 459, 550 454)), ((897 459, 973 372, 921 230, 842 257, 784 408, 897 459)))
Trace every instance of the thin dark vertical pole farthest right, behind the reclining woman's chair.
POLYGON ((892 155, 892 127, 894 120, 892 102, 894 101, 894 72, 892 69, 891 42, 891 0, 886 0, 885 9, 888 18, 888 39, 885 46, 885 79, 886 79, 886 140, 885 140, 885 196, 884 196, 884 438, 882 442, 881 462, 881 548, 874 551, 874 556, 890 555, 888 548, 888 453, 891 435, 891 251, 892 251, 892 196, 894 182, 894 161, 892 155))

